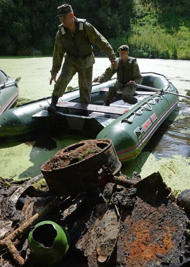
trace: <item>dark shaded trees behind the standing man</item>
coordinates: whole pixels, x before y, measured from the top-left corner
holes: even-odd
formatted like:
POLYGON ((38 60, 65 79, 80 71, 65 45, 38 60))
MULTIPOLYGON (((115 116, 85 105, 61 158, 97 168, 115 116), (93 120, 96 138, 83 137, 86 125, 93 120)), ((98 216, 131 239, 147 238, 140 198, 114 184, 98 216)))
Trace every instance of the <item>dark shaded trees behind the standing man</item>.
MULTIPOLYGON (((68 0, 105 38, 130 29, 135 0, 68 0)), ((61 0, 0 0, 0 55, 52 54, 61 0)))

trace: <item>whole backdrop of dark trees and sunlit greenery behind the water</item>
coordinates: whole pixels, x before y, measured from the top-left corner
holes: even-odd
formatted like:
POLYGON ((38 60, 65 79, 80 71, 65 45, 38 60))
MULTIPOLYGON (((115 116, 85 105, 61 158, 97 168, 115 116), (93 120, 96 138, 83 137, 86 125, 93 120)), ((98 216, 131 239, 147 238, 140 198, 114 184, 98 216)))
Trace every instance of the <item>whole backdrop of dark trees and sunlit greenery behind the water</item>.
MULTIPOLYGON (((52 55, 62 0, 0 0, 0 55, 52 55)), ((113 49, 134 57, 190 59, 189 0, 66 0, 113 49)), ((95 55, 104 55, 94 47, 95 55)))

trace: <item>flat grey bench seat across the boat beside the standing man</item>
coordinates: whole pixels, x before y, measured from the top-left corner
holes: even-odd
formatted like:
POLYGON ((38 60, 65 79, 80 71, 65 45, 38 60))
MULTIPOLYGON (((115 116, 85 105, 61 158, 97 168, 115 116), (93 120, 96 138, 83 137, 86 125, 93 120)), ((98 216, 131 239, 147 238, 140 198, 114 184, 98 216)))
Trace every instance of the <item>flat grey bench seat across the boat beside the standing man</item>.
POLYGON ((92 112, 102 112, 109 114, 117 114, 122 115, 126 112, 126 107, 118 108, 112 106, 101 106, 101 105, 93 105, 93 104, 84 104, 84 103, 76 103, 76 102, 58 102, 57 107, 61 108, 69 108, 69 109, 78 109, 78 110, 87 110, 92 112))

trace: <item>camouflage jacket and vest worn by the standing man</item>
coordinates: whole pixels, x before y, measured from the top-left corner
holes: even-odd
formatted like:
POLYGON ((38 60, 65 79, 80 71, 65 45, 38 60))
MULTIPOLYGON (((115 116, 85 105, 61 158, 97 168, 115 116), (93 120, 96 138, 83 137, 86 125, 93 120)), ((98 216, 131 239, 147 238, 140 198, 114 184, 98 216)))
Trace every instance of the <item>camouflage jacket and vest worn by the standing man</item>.
POLYGON ((65 60, 70 61, 74 66, 79 68, 91 67, 95 60, 92 52, 92 44, 96 44, 104 53, 107 54, 109 59, 116 57, 114 50, 108 41, 99 33, 91 24, 85 20, 74 17, 76 23, 75 36, 62 24, 59 26, 59 30, 56 34, 55 46, 53 52, 53 66, 51 74, 55 77, 61 68, 63 56, 65 60), (81 23, 84 23, 81 30, 81 23), (77 38, 76 38, 77 37, 77 38), (81 54, 82 51, 87 57, 81 58, 76 56, 76 52, 81 54))

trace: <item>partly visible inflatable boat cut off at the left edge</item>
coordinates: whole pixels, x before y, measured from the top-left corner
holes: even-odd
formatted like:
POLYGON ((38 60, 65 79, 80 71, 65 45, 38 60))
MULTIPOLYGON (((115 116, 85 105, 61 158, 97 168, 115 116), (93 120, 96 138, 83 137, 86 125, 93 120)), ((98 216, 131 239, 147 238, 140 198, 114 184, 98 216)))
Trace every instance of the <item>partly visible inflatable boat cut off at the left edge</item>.
POLYGON ((19 81, 20 78, 13 81, 4 71, 0 70, 0 114, 15 104, 18 98, 17 83, 19 81))

